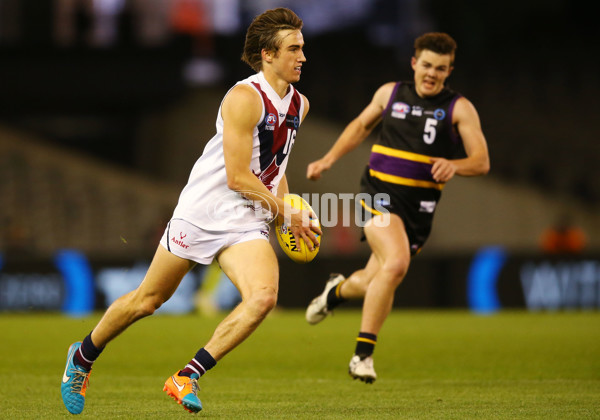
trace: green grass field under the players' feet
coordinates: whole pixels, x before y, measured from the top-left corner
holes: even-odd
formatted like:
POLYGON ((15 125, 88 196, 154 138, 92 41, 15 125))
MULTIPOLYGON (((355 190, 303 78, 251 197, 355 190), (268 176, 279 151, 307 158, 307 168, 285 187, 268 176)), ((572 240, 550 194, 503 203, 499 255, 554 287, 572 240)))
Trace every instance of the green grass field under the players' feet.
MULTIPOLYGON (((98 315, 99 316, 99 315, 98 315)), ((0 418, 71 418, 59 383, 67 348, 98 319, 0 315, 0 418)), ((379 335, 373 385, 347 363, 360 313, 309 326, 279 310, 200 380, 209 419, 600 419, 600 313, 395 311, 379 335)), ((190 417, 165 379, 220 317, 154 316, 94 367, 81 418, 190 417)))

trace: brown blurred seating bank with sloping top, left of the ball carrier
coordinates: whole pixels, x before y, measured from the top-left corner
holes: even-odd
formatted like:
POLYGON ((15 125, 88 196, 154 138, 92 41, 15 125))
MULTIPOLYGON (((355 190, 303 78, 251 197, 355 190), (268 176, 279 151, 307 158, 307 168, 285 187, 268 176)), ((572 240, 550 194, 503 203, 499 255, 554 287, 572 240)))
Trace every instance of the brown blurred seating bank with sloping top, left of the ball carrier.
POLYGON ((60 248, 96 258, 146 258, 178 193, 0 127, 0 249, 8 258, 43 259, 60 248))

